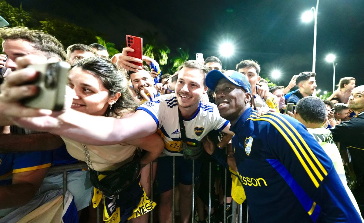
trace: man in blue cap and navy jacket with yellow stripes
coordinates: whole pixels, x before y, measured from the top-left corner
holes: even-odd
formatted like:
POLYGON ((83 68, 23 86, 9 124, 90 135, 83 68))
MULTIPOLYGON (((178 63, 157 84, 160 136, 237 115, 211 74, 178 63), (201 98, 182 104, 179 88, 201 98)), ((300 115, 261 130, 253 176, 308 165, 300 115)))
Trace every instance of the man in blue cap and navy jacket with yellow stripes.
POLYGON ((331 160, 301 123, 277 112, 258 117, 249 81, 237 71, 210 71, 206 85, 232 124, 252 222, 361 222, 331 160))

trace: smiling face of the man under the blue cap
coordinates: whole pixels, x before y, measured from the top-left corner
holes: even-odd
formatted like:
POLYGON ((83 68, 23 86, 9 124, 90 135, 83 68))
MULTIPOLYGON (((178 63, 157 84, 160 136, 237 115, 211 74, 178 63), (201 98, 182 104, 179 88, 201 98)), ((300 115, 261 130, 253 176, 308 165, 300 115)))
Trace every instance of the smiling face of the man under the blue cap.
POLYGON ((215 87, 215 103, 222 118, 229 120, 232 124, 245 111, 251 95, 245 90, 225 78, 218 81, 215 87))

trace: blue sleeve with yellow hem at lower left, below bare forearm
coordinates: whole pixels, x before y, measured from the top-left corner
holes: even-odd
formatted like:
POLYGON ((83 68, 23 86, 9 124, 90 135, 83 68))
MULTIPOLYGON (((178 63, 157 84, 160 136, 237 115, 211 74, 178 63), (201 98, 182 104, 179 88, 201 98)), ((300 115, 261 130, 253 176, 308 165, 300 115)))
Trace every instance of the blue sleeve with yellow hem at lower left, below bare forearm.
POLYGON ((13 160, 13 174, 50 167, 52 151, 19 152, 13 160))

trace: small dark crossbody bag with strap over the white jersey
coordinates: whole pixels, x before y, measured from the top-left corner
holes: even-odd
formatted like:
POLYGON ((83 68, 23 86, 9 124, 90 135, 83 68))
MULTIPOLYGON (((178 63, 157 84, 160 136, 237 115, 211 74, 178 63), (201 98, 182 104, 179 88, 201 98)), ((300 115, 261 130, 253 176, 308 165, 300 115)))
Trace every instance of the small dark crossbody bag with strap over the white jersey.
POLYGON ((194 160, 201 156, 203 152, 202 143, 198 142, 194 146, 190 146, 187 144, 186 141, 186 129, 185 125, 183 124, 181 111, 178 109, 178 119, 179 119, 179 129, 181 130, 181 137, 182 137, 182 152, 183 152, 183 158, 194 160))

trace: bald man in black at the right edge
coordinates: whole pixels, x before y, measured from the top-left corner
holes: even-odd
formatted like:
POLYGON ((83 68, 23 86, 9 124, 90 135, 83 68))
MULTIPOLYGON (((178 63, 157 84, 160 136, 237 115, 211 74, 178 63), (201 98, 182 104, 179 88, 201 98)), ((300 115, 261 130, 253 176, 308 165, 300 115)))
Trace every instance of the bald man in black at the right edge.
POLYGON ((341 122, 331 130, 333 140, 340 143, 340 149, 347 149, 356 175, 357 187, 353 190, 359 205, 361 215, 364 211, 364 85, 356 87, 351 92, 348 107, 356 116, 346 122, 341 122))

